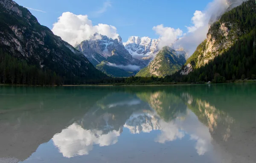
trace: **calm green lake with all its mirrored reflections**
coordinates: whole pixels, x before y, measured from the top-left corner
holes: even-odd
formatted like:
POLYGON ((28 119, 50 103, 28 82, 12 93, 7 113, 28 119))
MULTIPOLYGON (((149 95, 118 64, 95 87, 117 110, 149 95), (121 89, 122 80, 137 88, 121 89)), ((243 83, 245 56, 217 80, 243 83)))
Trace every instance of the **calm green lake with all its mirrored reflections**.
POLYGON ((256 83, 0 87, 0 163, 256 163, 256 83))

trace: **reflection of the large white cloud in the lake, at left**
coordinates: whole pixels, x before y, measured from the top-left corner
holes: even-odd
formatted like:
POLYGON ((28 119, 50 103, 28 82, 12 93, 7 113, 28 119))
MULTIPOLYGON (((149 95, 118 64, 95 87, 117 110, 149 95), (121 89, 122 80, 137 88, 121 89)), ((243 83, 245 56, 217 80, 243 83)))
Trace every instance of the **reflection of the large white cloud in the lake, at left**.
POLYGON ((117 143, 120 131, 111 131, 103 134, 101 130, 86 130, 74 123, 61 133, 52 138, 55 146, 64 157, 74 157, 77 155, 88 155, 94 144, 99 146, 109 146, 117 143))

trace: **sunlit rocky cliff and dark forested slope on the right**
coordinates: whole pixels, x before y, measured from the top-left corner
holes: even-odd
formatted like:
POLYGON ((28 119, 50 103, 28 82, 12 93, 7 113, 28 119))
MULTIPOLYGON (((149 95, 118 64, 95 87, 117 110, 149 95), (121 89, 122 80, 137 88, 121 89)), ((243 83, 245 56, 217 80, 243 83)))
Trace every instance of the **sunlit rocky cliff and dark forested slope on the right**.
POLYGON ((171 79, 221 82, 256 74, 256 3, 248 0, 223 14, 207 39, 171 79), (185 76, 182 76, 185 75, 185 76))

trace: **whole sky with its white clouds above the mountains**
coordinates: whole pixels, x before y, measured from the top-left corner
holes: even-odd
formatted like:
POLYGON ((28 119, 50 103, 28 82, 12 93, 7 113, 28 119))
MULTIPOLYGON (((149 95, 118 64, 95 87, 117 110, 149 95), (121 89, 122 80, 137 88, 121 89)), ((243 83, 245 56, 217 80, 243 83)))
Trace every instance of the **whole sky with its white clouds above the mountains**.
POLYGON ((227 11, 232 1, 16 0, 73 46, 97 32, 113 39, 121 36, 124 44, 131 36, 159 39, 158 48, 175 45, 189 56, 206 39, 209 20, 227 11))

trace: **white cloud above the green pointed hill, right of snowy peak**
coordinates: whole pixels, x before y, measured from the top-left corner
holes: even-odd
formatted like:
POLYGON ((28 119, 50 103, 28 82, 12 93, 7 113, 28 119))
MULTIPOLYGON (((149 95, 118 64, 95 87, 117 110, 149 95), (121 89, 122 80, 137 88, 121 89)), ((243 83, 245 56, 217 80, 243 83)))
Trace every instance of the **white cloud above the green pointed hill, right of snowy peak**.
POLYGON ((153 30, 157 35, 160 36, 158 48, 172 45, 177 40, 177 38, 181 37, 183 34, 183 31, 181 31, 180 28, 175 29, 171 27, 164 27, 163 24, 154 26, 153 30))

